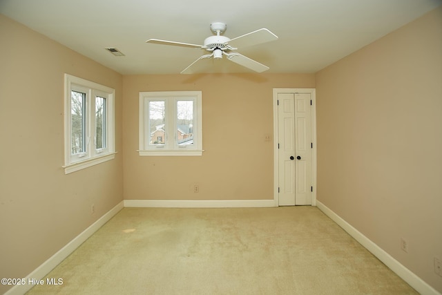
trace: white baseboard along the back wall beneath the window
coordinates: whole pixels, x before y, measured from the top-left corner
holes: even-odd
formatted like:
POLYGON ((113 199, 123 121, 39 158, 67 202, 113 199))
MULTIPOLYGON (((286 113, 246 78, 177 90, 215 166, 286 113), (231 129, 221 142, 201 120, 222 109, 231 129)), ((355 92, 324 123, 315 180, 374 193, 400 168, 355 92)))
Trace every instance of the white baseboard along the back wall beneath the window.
POLYGON ((275 200, 124 200, 124 207, 244 208, 276 207, 275 200))

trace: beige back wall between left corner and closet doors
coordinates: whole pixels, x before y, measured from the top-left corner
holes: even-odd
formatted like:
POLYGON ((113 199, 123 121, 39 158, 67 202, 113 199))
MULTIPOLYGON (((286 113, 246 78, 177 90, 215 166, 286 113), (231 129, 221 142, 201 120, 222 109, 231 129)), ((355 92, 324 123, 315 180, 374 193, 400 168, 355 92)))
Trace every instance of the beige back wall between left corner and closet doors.
POLYGON ((124 198, 273 199, 273 88, 314 88, 314 75, 133 75, 124 77, 124 198), (202 91, 201 157, 141 157, 141 91, 202 91), (200 187, 193 193, 193 184, 200 187))

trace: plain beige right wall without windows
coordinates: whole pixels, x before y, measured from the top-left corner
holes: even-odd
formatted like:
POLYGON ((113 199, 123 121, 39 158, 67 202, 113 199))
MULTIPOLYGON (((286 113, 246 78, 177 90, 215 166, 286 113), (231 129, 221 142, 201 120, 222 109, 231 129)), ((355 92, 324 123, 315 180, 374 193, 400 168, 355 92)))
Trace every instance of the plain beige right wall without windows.
POLYGON ((316 97, 318 200, 442 292, 442 8, 320 70, 316 97))

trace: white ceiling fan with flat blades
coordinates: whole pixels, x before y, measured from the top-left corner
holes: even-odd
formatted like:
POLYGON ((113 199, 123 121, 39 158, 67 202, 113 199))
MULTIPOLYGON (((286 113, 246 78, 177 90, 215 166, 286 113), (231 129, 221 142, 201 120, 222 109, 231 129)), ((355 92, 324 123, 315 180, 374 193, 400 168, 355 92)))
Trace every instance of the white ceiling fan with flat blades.
POLYGON ((193 61, 193 63, 182 70, 182 74, 192 74, 195 73, 194 66, 201 61, 202 59, 222 59, 222 55, 225 55, 227 59, 233 61, 236 64, 254 70, 258 73, 262 73, 265 70, 268 70, 269 67, 263 64, 260 64, 258 61, 254 61, 253 59, 249 59, 249 57, 245 57, 244 55, 240 55, 235 50, 242 47, 253 46, 257 44, 266 43, 269 41, 274 41, 278 39, 278 36, 270 32, 266 28, 262 28, 260 30, 256 30, 253 32, 249 32, 248 34, 242 35, 240 37, 236 37, 233 39, 229 39, 229 37, 221 36, 221 34, 226 30, 227 25, 225 23, 215 22, 211 23, 210 29, 215 36, 207 37, 204 40, 204 45, 197 44, 189 44, 182 43, 176 41, 166 41, 160 39, 148 39, 146 43, 153 44, 163 44, 163 45, 171 45, 171 46, 182 46, 189 47, 195 49, 205 49, 210 53, 207 55, 202 55, 197 60, 193 61))

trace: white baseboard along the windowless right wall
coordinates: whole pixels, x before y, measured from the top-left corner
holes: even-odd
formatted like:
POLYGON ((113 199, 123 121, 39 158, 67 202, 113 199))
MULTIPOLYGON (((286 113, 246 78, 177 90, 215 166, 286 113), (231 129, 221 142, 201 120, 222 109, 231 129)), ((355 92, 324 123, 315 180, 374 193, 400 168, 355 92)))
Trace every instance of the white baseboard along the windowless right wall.
POLYGON ((417 292, 423 295, 441 295, 436 289, 425 283, 424 280, 416 276, 410 269, 401 265, 398 260, 394 259, 390 254, 384 251, 381 247, 376 245, 372 240, 369 240, 366 236, 361 234, 360 231, 352 227, 347 221, 340 218, 334 211, 329 209, 325 204, 316 200, 316 207, 323 211, 325 215, 336 222, 340 227, 342 227, 347 233, 357 240, 363 247, 370 251, 374 256, 381 260, 387 267, 392 269, 394 273, 400 276, 408 285, 412 286, 417 292))

